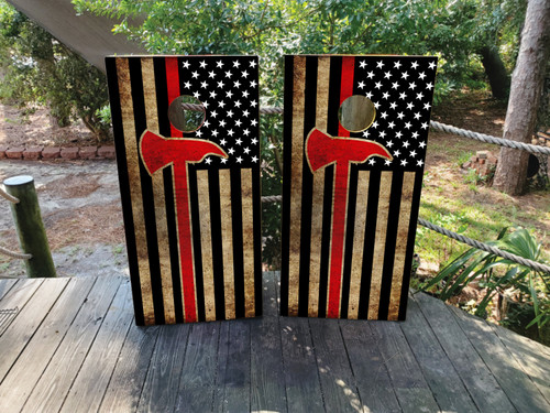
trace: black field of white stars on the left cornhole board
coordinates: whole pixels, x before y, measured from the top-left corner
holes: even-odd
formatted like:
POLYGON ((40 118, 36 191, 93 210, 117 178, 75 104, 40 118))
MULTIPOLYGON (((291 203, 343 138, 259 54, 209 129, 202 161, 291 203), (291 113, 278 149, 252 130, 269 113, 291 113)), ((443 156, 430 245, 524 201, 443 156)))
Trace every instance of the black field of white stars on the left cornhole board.
POLYGON ((206 109, 204 124, 185 138, 218 143, 229 155, 206 157, 197 169, 260 164, 258 63, 255 56, 179 57, 182 95, 206 109))

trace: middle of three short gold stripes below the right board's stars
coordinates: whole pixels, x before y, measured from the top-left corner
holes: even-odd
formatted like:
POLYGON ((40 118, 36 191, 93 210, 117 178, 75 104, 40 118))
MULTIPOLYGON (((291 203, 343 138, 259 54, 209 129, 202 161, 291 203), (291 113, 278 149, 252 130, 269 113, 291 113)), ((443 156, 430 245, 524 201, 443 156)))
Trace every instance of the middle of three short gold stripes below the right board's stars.
POLYGON ((392 192, 389 171, 383 171, 380 183, 376 235, 374 238, 373 272, 371 278, 371 295, 369 298, 369 319, 378 319, 382 272, 384 269, 384 251, 386 249, 387 219, 389 213, 389 195, 392 192))

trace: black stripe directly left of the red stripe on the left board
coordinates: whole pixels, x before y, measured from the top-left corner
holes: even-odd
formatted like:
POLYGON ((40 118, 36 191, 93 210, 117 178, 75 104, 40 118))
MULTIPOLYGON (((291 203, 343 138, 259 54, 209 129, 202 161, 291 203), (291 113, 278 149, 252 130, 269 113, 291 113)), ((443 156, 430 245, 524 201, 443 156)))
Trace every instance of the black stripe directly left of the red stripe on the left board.
MULTIPOLYGON (((170 135, 168 120, 168 85, 166 83, 166 61, 153 58, 156 87, 156 108, 158 113, 158 131, 163 137, 170 135)), ((179 272, 179 249, 177 244, 176 206, 174 203, 173 167, 163 170, 164 202, 166 204, 166 225, 168 226, 168 246, 172 267, 172 290, 176 323, 184 323, 184 305, 182 300, 182 274, 179 272)))

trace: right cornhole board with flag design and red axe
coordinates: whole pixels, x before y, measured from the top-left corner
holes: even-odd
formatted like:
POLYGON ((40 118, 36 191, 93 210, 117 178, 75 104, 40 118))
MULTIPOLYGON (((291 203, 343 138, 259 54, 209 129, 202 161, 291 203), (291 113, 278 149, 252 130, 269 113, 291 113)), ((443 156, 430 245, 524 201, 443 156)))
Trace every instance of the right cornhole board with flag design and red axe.
POLYGON ((436 66, 285 56, 283 315, 405 319, 436 66))

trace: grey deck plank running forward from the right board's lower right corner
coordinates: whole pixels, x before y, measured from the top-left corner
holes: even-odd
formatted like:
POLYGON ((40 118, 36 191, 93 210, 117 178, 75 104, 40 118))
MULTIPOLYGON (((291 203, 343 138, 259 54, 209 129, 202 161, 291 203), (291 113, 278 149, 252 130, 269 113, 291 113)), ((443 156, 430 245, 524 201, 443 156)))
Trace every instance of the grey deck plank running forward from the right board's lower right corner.
POLYGON ((409 300, 408 303, 407 323, 400 324, 402 330, 439 406, 449 412, 476 412, 477 407, 474 401, 444 354, 418 304, 414 300, 409 300))

